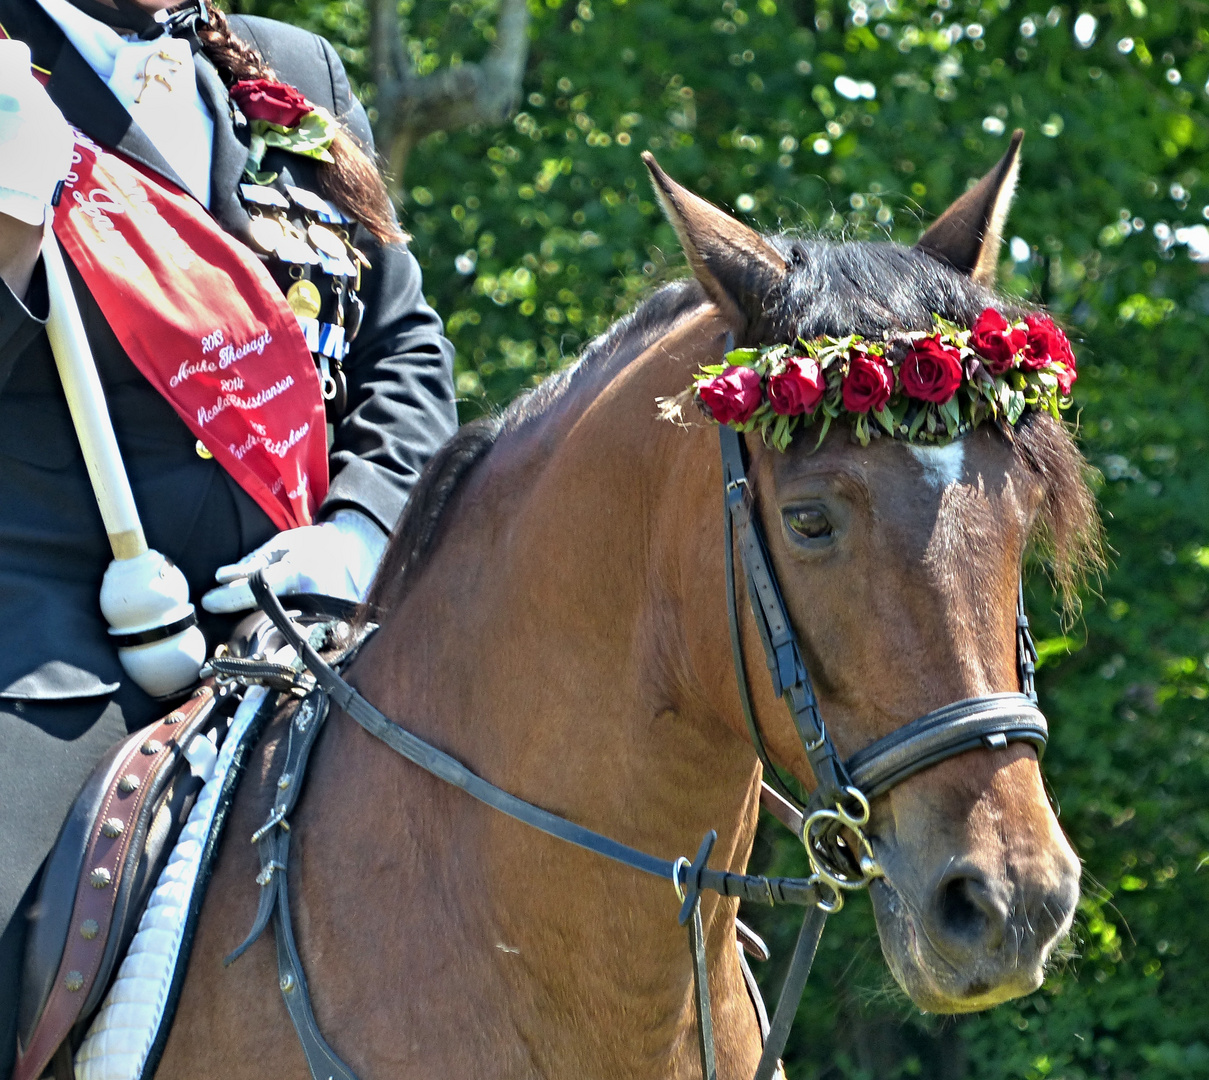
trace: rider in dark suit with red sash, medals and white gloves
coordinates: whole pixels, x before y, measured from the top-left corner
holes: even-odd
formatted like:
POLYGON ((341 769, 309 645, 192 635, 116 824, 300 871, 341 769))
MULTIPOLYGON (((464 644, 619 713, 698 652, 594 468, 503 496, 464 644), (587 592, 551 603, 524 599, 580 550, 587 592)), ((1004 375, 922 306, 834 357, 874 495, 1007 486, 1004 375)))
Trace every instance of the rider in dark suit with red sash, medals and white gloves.
POLYGON ((0 1078, 28 909, 59 822, 105 751, 168 708, 126 677, 98 607, 111 553, 45 331, 44 221, 59 233, 62 203, 87 203, 83 226, 60 235, 69 273, 147 541, 184 571, 212 648, 251 606, 255 568, 277 591, 361 597, 456 425, 452 347, 335 51, 280 23, 229 21, 212 0, 169 4, 0 0, 0 1078), (162 213, 133 226, 128 213, 116 229, 157 267, 151 298, 106 264, 122 210, 85 190, 93 151, 162 213), (232 295, 249 275, 259 285, 232 295), (215 324, 244 305, 249 318, 283 316, 266 325, 290 333, 241 342, 191 324, 202 281, 215 324), (305 426, 287 428, 279 454, 260 452, 266 426, 289 422, 297 395, 285 393, 218 399, 212 414, 244 427, 212 437, 172 352, 181 330, 230 368, 224 393, 255 365, 284 371, 278 388, 322 387, 307 399, 310 441, 305 426), (293 490, 285 473, 271 483, 283 462, 300 478, 293 490))

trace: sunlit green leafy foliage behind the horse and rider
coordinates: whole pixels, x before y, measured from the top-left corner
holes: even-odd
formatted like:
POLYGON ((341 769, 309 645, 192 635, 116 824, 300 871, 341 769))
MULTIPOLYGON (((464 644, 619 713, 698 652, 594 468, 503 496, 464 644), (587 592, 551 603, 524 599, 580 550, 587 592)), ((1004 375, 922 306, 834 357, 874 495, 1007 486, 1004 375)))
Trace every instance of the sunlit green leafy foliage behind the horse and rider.
MULTIPOLYGON (((326 34, 374 108, 368 15, 243 0, 326 34)), ((401 0, 420 74, 496 8, 401 0)), ((1209 5, 1203 0, 531 0, 511 122, 438 132, 401 178, 463 418, 505 403, 683 265, 638 160, 765 229, 914 242, 1026 132, 1001 284, 1076 339, 1109 571, 1065 626, 1043 568, 1046 758, 1084 860, 1045 988, 922 1017, 866 897, 823 938, 787 1055, 806 1078, 1209 1078, 1209 5)), ((804 872, 775 830, 754 864, 804 872)), ((787 957, 787 913, 754 917, 787 957)), ((759 972, 771 993, 776 961, 759 972)), ((624 1038, 623 1033, 618 1033, 624 1038)))

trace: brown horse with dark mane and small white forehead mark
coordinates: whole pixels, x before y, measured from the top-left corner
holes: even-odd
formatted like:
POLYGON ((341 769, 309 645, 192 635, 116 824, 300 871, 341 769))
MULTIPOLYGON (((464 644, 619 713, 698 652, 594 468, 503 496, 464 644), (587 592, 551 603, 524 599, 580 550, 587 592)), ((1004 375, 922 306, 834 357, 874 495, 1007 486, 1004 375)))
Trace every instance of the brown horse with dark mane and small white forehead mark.
MULTIPOLYGON (((1008 157, 913 249, 763 237, 654 169, 694 278, 655 293, 502 421, 432 463, 349 680, 480 775, 663 857, 719 834, 741 871, 760 769, 740 714, 712 426, 658 398, 736 342, 970 325, 988 304, 1008 157)), ((843 428, 821 449, 748 439, 771 556, 822 714, 849 755, 929 710, 1018 689, 1016 589, 1034 536, 1059 578, 1097 536, 1068 433, 1028 416, 943 450, 843 428), (805 524, 803 524, 805 522, 805 524)), ((770 752, 806 758, 742 636, 770 752)), ((237 797, 160 1078, 306 1075, 271 935, 222 957, 256 908, 247 837, 283 753, 278 721, 237 797)), ((873 810, 889 964, 926 1010, 1035 989, 1078 862, 1034 751, 978 750, 873 810)), ((698 1078, 692 966, 670 882, 560 843, 421 772, 335 714, 293 816, 289 888, 314 1012, 361 1080, 698 1078)), ((760 1036, 735 951, 737 901, 702 901, 719 1076, 760 1036)))

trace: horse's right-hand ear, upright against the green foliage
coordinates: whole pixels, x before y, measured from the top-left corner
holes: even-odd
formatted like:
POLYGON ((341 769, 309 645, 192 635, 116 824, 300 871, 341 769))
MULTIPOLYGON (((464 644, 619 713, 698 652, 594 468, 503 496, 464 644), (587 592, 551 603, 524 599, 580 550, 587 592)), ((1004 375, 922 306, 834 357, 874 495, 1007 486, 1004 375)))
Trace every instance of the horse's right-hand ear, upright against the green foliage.
POLYGON ((1003 223, 1020 171, 1023 138, 1024 132, 1017 128, 999 164, 941 214, 915 244, 982 285, 995 283, 1003 223))

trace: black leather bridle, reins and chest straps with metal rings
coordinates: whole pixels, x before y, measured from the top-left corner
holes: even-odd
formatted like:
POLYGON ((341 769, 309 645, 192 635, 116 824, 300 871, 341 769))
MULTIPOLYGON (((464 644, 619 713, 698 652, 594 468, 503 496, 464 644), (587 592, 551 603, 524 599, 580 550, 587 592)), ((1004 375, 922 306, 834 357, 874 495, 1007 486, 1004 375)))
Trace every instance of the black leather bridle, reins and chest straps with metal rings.
POLYGON ((1024 614, 1023 589, 1018 589, 1016 646, 1022 692, 985 694, 945 705, 878 739, 845 762, 818 712, 810 672, 803 662, 797 635, 773 572, 768 544, 747 480, 746 447, 740 437, 728 427, 719 427, 719 438, 725 507, 727 610, 739 697, 765 776, 777 789, 774 791, 765 784, 762 802, 804 843, 811 870, 809 878, 770 878, 710 870, 707 862, 717 839, 717 833, 713 831, 706 834, 692 862, 684 857, 675 861, 660 859, 496 787, 472 773, 456 758, 399 727, 340 676, 336 666, 351 660, 372 629, 360 640, 353 643, 346 642, 340 658, 329 663, 317 652, 317 647, 322 647, 319 641, 322 634, 316 637, 312 631, 308 636, 303 636, 264 578, 259 573, 251 578, 251 590, 261 610, 293 646, 305 672, 296 666, 236 657, 215 658, 212 660, 212 669, 220 678, 265 683, 305 695, 306 700, 299 706, 290 723, 285 764, 278 780, 270 818, 253 836, 261 862, 261 872, 256 878, 261 886, 256 919, 247 940, 226 963, 239 957, 260 936, 270 920, 273 922, 282 995, 314 1080, 357 1080, 355 1074, 323 1039, 316 1023, 301 958, 294 940, 289 893, 285 888, 289 860, 288 816, 301 793, 307 760, 326 718, 330 703, 335 703, 370 734, 409 761, 480 802, 549 836, 672 882, 681 900, 679 923, 682 926, 687 924, 689 931, 698 1041, 705 1080, 716 1080, 717 1067, 701 924, 702 891, 737 896, 754 903, 793 903, 808 908, 781 997, 764 1035, 764 1050, 753 1078, 753 1080, 771 1080, 785 1050, 827 917, 844 906, 845 893, 863 889, 881 876, 881 868, 864 832, 869 822, 870 801, 908 776, 967 750, 978 747, 1000 750, 1008 743, 1020 741, 1035 746, 1039 757, 1043 752, 1048 727, 1045 715, 1036 704, 1034 688, 1036 651, 1029 633, 1029 620, 1024 614), (770 761, 752 711, 739 633, 734 565, 736 547, 742 560, 747 596, 764 647, 773 687, 789 709, 817 781, 815 791, 805 804, 796 798, 770 761))

